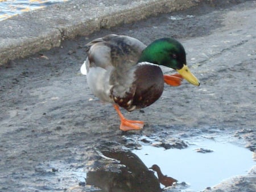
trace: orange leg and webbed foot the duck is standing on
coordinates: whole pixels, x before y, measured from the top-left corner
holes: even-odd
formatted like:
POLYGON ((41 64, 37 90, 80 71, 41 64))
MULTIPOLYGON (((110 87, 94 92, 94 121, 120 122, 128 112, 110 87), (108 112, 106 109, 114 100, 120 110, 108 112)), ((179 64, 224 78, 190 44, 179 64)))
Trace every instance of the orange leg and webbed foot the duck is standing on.
POLYGON ((122 131, 130 131, 130 130, 141 130, 144 126, 144 122, 139 121, 139 120, 129 120, 125 119, 125 117, 122 115, 121 111, 119 110, 119 106, 113 104, 115 110, 117 111, 120 120, 121 120, 121 125, 120 125, 120 130, 122 131))

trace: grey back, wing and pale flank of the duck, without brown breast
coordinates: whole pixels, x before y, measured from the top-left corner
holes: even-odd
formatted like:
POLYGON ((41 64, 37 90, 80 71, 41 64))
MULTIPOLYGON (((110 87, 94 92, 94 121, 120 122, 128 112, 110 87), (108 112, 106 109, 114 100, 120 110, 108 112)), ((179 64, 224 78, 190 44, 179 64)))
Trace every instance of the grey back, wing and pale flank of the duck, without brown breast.
POLYGON ((108 102, 115 95, 126 97, 128 93, 132 97, 134 68, 146 45, 133 37, 108 35, 90 41, 86 47, 88 57, 84 65, 94 95, 108 102))

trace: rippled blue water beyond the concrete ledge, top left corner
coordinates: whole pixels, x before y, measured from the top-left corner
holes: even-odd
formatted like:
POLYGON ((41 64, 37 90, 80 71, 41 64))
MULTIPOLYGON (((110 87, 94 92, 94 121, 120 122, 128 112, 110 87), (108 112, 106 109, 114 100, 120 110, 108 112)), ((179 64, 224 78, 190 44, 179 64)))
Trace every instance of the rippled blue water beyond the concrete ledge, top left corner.
POLYGON ((0 21, 23 12, 65 1, 68 0, 0 0, 0 21))

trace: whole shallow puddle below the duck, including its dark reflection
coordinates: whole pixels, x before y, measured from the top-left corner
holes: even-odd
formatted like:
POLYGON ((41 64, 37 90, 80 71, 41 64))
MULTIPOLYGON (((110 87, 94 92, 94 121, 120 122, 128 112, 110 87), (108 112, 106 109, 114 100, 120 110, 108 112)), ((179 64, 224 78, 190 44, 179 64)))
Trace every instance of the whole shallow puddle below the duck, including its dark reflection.
POLYGON ((167 150, 143 143, 142 149, 133 152, 106 150, 98 155, 92 169, 88 169, 89 164, 66 161, 39 164, 35 168, 35 189, 157 192, 170 186, 165 191, 200 191, 226 178, 247 174, 255 164, 248 149, 213 140, 167 150), (161 178, 148 169, 155 164, 168 177, 161 178))

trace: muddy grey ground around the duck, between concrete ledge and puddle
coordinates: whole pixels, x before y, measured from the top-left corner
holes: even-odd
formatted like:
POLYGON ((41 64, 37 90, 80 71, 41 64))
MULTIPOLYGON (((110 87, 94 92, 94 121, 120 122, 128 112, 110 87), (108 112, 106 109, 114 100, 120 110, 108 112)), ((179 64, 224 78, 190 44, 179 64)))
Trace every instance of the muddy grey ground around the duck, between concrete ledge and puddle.
MULTIPOLYGON (((182 149, 204 136, 255 152, 255 7, 255 1, 204 4, 66 40, 60 48, 0 66, 0 191, 93 191, 93 181, 86 183, 77 174, 83 178, 82 172, 104 167, 90 174, 116 178, 111 173, 121 165, 101 153, 120 160, 112 151, 129 152, 151 142, 143 136, 166 148, 182 149), (130 114, 123 110, 127 118, 146 122, 142 131, 119 131, 113 107, 98 101, 80 74, 86 42, 107 34, 133 36, 145 44, 164 36, 179 39, 201 86, 165 86, 150 107, 130 114), (72 173, 61 174, 61 169, 72 173)), ((147 173, 139 160, 137 165, 147 173)), ((151 173, 144 190, 130 191, 158 191, 159 183, 150 186, 156 182, 151 173)), ((114 188, 122 181, 106 184, 108 179, 105 191, 129 191, 114 188)), ((251 173, 219 189, 254 191, 255 185, 251 173)))

